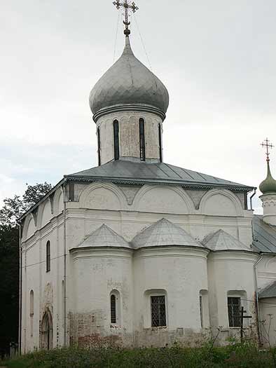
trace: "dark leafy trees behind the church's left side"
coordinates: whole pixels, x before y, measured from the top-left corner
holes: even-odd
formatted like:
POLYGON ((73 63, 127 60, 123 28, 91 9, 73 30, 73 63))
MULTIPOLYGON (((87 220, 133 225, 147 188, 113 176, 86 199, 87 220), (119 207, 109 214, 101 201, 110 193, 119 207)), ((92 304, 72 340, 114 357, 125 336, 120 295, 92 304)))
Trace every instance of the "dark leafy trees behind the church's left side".
POLYGON ((19 229, 18 219, 39 202, 51 184, 27 184, 22 197, 6 198, 0 210, 0 357, 18 342, 19 229))

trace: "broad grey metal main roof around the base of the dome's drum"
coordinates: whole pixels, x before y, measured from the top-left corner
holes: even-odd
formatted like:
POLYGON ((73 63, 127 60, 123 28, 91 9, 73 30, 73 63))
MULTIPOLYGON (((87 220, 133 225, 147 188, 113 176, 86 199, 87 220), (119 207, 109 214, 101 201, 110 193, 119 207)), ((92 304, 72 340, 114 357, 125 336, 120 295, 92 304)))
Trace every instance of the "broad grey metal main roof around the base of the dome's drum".
POLYGON ((67 179, 93 182, 105 180, 120 184, 174 184, 197 189, 212 189, 216 186, 237 191, 251 191, 253 187, 219 179, 200 172, 178 168, 167 163, 135 163, 111 161, 89 170, 66 175, 67 179))

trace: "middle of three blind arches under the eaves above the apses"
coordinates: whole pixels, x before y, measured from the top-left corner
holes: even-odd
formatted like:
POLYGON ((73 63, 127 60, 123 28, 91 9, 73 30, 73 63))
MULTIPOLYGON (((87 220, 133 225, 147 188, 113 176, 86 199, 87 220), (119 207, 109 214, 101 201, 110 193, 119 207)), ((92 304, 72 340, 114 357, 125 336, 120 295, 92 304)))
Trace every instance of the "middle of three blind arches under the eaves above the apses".
POLYGON ((180 186, 144 185, 136 194, 133 206, 139 212, 192 214, 193 201, 180 186))

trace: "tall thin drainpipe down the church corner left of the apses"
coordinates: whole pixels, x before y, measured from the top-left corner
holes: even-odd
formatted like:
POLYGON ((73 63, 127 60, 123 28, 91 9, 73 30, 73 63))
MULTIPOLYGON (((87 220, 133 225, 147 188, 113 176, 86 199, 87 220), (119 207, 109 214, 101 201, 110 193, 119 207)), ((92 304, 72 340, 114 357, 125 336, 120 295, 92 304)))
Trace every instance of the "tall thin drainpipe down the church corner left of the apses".
POLYGON ((64 184, 62 184, 62 193, 63 193, 63 346, 64 348, 67 346, 67 244, 66 244, 66 185, 67 180, 64 180, 64 184))

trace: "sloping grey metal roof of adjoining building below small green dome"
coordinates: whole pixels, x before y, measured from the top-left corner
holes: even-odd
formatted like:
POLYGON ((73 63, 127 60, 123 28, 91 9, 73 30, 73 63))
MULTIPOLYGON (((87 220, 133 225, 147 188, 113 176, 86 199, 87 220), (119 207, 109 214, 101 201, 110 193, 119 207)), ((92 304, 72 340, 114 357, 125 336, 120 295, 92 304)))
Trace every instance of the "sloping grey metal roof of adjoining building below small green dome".
POLYGON ((276 253, 276 226, 263 222, 261 215, 254 215, 253 245, 259 252, 276 253))

